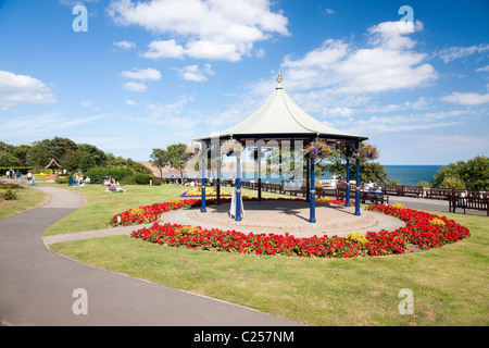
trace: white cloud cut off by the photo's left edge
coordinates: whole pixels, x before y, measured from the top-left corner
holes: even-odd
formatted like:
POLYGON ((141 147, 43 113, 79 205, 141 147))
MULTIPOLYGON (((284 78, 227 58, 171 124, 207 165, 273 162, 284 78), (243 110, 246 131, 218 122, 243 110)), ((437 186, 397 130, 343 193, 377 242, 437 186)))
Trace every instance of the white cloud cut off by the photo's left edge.
POLYGON ((52 103, 57 98, 42 82, 28 75, 0 71, 0 109, 7 110, 20 102, 52 103))

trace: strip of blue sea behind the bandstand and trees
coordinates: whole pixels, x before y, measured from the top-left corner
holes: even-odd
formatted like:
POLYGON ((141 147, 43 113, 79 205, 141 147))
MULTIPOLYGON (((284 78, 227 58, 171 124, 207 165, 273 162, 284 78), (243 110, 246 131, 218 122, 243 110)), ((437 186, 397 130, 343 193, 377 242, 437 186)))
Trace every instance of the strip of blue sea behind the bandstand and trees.
MULTIPOLYGON (((434 175, 437 174, 443 165, 384 165, 386 174, 390 181, 396 181, 401 185, 416 186, 418 182, 424 181, 429 183, 434 175)), ((352 179, 354 179, 354 173, 352 173, 352 179)), ((227 177, 226 177, 227 178, 227 177)), ((243 181, 258 179, 255 173, 243 173, 243 181)), ((330 173, 324 173, 324 175, 316 176, 317 179, 331 179, 330 173)), ((272 184, 279 184, 281 181, 288 181, 287 177, 278 175, 262 177, 262 182, 268 181, 272 184)))

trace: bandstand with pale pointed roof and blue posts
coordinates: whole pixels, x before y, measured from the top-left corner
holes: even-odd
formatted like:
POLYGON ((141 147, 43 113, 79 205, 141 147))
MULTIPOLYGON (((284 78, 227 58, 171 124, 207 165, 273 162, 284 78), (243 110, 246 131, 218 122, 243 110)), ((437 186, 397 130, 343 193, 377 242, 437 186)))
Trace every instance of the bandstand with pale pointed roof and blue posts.
MULTIPOLYGON (((366 136, 349 134, 335 129, 323 122, 314 119, 299 108, 293 100, 287 95, 281 86, 283 77, 280 74, 276 77, 277 87, 268 100, 251 116, 241 123, 210 136, 192 139, 201 144, 201 153, 213 153, 216 159, 221 158, 221 149, 226 141, 238 141, 244 147, 254 147, 258 150, 259 178, 258 178, 258 197, 261 200, 262 181, 260 176, 260 153, 261 148, 266 145, 274 144, 283 148, 290 147, 293 142, 309 145, 314 141, 323 141, 327 146, 346 147, 347 148, 347 190, 346 207, 350 207, 350 159, 358 152, 361 141, 368 139, 366 136)), ((300 150, 302 151, 301 146, 300 150)), ((205 165, 206 156, 202 156, 202 200, 201 213, 205 213, 205 165)), ((309 222, 315 223, 315 189, 314 189, 314 163, 313 157, 304 157, 306 162, 306 201, 310 204, 309 222)), ((355 187, 355 211, 354 215, 361 215, 360 212, 360 165, 359 157, 356 157, 356 187, 355 187)), ((236 212, 234 213, 236 221, 241 221, 241 165, 240 156, 236 156, 237 173, 236 173, 236 212)), ((220 167, 220 165, 217 165, 220 167)), ((216 203, 220 204, 221 175, 217 175, 216 183, 216 203)))

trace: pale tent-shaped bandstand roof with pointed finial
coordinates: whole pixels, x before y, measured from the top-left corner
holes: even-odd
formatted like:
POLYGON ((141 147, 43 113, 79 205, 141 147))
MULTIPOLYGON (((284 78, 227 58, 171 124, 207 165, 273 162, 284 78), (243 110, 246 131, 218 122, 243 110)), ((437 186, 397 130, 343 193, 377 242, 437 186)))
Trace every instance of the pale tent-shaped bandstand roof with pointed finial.
POLYGON ((268 100, 251 116, 226 130, 211 136, 195 138, 195 141, 211 141, 212 138, 226 140, 230 137, 238 140, 276 139, 294 140, 321 138, 328 142, 344 142, 347 140, 362 141, 366 136, 335 129, 309 115, 299 108, 281 86, 281 76, 277 76, 278 86, 268 100))

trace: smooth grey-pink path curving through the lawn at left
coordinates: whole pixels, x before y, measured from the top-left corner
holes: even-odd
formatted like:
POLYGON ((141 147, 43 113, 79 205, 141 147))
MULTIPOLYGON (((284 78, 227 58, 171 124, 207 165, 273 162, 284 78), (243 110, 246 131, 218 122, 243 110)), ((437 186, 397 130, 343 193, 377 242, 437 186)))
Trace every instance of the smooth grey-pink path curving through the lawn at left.
POLYGON ((46 206, 0 220, 0 323, 10 325, 301 325, 256 310, 98 269, 48 249, 42 234, 78 209, 78 194, 40 187, 46 206), (74 297, 76 289, 86 297, 74 297), (86 298, 87 314, 75 314, 86 298))

